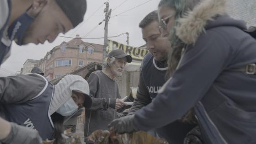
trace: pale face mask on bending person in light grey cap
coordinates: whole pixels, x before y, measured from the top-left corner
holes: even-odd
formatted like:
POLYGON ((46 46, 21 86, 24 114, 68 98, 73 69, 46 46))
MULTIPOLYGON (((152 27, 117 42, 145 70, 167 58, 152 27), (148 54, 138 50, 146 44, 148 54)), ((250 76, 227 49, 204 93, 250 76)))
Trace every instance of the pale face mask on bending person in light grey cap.
POLYGON ((71 116, 75 111, 77 111, 77 109, 78 106, 72 97, 70 97, 69 100, 66 101, 56 112, 64 117, 67 117, 71 116))

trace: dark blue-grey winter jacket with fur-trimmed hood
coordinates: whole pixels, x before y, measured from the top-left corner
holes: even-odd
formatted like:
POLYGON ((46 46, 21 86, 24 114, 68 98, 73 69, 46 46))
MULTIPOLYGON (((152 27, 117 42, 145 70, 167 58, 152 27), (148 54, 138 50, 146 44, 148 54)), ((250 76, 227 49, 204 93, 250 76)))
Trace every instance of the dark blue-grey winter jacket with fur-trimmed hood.
MULTIPOLYGON (((187 48, 172 79, 135 114, 137 128, 163 127, 195 107, 199 126, 209 126, 200 127, 205 144, 256 144, 256 75, 229 70, 256 63, 256 40, 224 5, 203 0, 178 20, 176 35, 187 48)), ((169 140, 171 133, 163 132, 169 140)))

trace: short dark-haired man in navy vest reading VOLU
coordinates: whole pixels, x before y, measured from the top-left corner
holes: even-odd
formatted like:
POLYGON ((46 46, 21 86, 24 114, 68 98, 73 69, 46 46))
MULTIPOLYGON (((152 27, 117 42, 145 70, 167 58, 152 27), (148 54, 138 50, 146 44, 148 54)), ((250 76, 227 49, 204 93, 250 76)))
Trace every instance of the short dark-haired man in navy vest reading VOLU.
MULTIPOLYGON (((166 71, 168 69, 168 37, 161 36, 159 31, 159 22, 157 11, 150 12, 139 23, 142 31, 142 37, 147 43, 149 53, 144 57, 139 77, 139 88, 137 98, 134 100, 133 106, 128 115, 133 115, 137 110, 147 106, 157 96, 158 90, 166 81, 166 71)), ((167 124, 155 131, 160 137, 169 139, 171 143, 182 143, 186 134, 194 127, 194 125, 175 121, 167 124), (166 130, 169 134, 164 133, 166 130), (175 135, 174 135, 175 133, 175 135)), ((149 131, 152 133, 152 131, 149 131)))

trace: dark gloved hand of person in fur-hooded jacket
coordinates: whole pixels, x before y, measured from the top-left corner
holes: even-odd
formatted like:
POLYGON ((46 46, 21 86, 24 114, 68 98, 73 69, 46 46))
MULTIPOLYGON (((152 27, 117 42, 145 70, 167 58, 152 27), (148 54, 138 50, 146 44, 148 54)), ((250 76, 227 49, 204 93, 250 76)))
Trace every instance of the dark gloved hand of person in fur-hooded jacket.
POLYGON ((134 115, 129 115, 113 120, 108 127, 115 133, 132 133, 139 131, 133 122, 134 115))

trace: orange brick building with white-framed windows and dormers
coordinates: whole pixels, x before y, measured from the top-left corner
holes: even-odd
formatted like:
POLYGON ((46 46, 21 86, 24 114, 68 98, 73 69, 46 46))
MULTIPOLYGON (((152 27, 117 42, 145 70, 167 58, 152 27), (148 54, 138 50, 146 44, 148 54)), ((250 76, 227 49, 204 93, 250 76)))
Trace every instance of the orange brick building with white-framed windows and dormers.
POLYGON ((92 62, 102 62, 103 45, 85 43, 80 38, 76 35, 75 39, 61 43, 40 59, 38 67, 44 71, 48 80, 59 78, 92 62))

